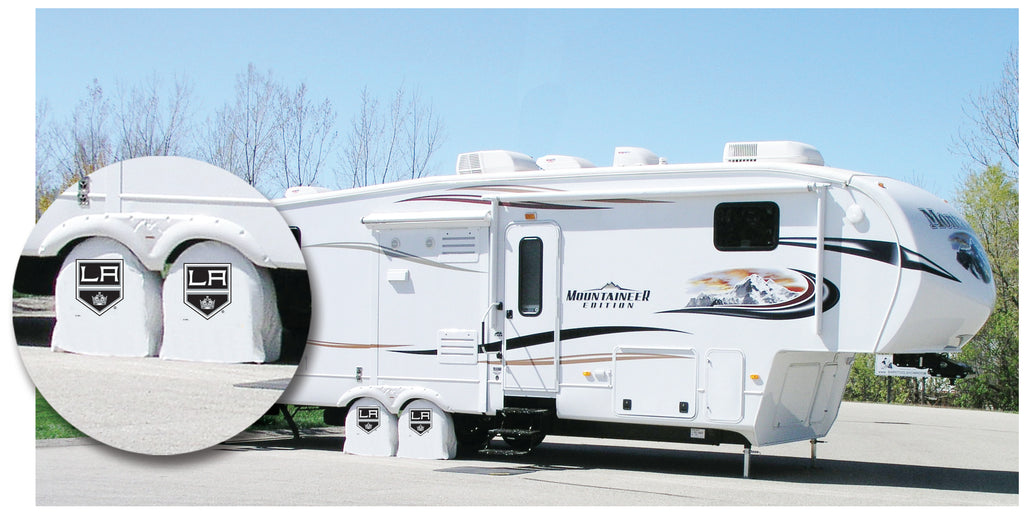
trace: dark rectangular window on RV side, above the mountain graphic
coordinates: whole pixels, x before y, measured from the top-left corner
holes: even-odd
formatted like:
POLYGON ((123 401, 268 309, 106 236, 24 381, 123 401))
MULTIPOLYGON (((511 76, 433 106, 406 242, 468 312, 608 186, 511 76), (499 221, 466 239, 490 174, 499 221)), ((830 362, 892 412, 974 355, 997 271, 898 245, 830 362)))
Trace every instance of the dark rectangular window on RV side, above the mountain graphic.
POLYGON ((777 246, 778 205, 742 202, 715 207, 715 248, 718 250, 775 250, 777 246))

